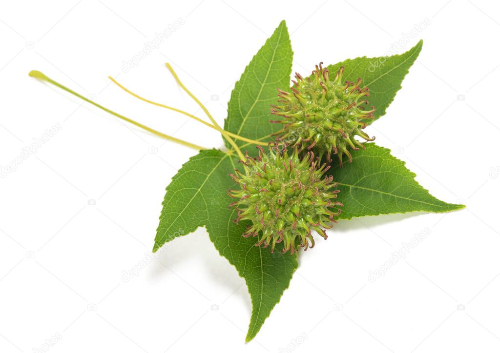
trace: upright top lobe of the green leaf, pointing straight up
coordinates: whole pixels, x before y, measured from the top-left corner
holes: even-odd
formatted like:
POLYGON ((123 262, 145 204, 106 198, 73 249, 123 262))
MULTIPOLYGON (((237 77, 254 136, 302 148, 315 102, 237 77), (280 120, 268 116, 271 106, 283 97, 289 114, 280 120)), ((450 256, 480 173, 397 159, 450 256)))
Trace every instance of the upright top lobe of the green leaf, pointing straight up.
MULTIPOLYGON (((277 88, 289 89, 292 57, 288 30, 281 21, 235 83, 227 104, 226 131, 252 140, 271 140, 267 136, 280 125, 269 123, 274 120, 269 105, 278 99, 277 88)), ((245 144, 239 140, 236 143, 245 144)), ((226 147, 230 148, 227 142, 226 147)))

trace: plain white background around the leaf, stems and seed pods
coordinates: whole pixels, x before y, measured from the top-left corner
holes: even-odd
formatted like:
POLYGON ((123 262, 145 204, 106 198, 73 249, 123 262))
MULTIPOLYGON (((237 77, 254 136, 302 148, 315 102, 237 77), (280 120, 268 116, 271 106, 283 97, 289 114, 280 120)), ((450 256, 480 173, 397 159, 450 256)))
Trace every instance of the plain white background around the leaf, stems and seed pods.
POLYGON ((0 165, 61 129, 0 179, 0 352, 498 352, 499 9, 485 0, 2 1, 0 165), (342 221, 300 254, 290 288, 245 345, 249 295, 204 229, 142 266, 164 188, 196 152, 27 73, 39 69, 160 131, 221 147, 216 132, 135 100, 106 76, 201 116, 169 61, 222 124, 234 81, 281 19, 302 74, 319 61, 424 40, 387 114, 366 131, 433 195, 467 208, 342 221), (405 259, 368 280, 426 229, 405 259))

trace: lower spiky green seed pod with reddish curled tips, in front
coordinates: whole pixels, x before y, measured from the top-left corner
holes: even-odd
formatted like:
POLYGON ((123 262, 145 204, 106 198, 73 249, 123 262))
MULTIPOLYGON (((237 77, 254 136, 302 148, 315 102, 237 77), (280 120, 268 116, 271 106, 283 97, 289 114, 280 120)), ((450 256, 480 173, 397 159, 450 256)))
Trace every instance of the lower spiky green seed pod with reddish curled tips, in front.
POLYGON ((229 205, 238 212, 235 222, 251 221, 243 237, 258 237, 255 246, 270 246, 271 252, 283 242, 282 252, 291 254, 296 247, 314 246, 311 231, 326 239, 324 229, 336 222, 334 217, 343 206, 335 201, 338 183, 331 176, 323 177, 329 166, 319 166, 312 152, 299 158, 296 148, 290 156, 276 146, 269 146, 267 154, 257 148, 257 157, 246 155, 240 161, 243 171, 229 174, 239 186, 227 191, 238 199, 229 205))

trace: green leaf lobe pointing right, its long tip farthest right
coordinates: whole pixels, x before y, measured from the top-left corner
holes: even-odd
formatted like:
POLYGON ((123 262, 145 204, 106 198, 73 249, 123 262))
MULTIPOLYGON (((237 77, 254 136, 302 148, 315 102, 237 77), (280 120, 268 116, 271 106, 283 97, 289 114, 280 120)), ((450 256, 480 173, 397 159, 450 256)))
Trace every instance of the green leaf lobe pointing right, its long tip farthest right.
POLYGON ((344 204, 339 218, 376 216, 411 211, 448 212, 464 208, 430 195, 415 180, 415 174, 387 148, 366 143, 365 150, 352 151, 352 163, 332 164, 333 180, 339 183, 338 200, 344 204))

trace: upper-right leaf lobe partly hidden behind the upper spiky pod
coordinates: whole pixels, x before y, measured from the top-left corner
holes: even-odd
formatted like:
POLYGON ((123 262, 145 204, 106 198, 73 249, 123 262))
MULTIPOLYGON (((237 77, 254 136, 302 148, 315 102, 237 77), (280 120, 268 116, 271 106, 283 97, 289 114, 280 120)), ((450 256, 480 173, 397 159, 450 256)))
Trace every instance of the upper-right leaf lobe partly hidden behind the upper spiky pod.
POLYGON ((380 57, 357 57, 347 59, 328 66, 330 73, 336 72, 340 66, 344 67, 343 77, 346 81, 356 82, 361 78, 361 85, 367 86, 370 95, 367 97, 369 105, 375 107, 373 119, 365 119, 370 124, 385 114, 385 109, 394 99, 396 92, 401 88, 401 82, 415 62, 420 50, 420 40, 414 47, 403 54, 380 57))

